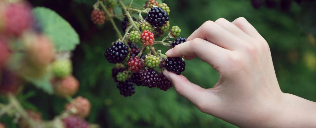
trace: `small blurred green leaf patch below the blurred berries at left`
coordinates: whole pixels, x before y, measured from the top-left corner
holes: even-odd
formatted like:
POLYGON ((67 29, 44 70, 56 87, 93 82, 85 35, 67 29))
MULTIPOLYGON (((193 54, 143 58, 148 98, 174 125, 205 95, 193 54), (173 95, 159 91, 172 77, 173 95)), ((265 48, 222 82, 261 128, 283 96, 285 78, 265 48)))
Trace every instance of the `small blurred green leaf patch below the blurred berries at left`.
POLYGON ((37 88, 43 89, 48 94, 53 94, 53 88, 52 83, 50 82, 51 74, 49 72, 43 74, 41 77, 29 77, 24 76, 24 79, 26 79, 28 82, 33 83, 37 88))

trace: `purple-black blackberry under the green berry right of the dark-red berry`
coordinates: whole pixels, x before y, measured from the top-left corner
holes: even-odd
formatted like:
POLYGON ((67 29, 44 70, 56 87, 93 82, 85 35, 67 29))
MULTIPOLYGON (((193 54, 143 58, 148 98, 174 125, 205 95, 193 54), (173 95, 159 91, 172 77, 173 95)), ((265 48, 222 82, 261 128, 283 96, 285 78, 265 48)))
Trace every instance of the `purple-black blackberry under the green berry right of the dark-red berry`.
POLYGON ((158 72, 154 69, 147 69, 140 74, 143 85, 149 88, 156 87, 158 84, 159 76, 158 72))

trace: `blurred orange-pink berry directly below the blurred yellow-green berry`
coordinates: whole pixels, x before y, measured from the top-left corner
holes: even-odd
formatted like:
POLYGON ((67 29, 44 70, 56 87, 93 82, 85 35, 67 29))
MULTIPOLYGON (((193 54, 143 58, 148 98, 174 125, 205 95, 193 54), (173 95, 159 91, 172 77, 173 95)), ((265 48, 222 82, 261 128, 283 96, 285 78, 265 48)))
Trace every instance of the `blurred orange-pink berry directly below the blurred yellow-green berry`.
POLYGON ((55 93, 61 97, 73 96, 79 88, 79 81, 72 75, 52 81, 55 93))

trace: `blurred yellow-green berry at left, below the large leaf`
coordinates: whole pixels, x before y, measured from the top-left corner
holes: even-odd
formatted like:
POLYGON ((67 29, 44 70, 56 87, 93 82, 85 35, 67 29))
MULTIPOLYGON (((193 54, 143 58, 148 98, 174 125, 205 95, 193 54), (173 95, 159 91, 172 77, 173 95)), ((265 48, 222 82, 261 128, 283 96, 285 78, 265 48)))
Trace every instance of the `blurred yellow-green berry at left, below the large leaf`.
POLYGON ((52 71, 57 78, 63 78, 72 73, 72 62, 69 59, 58 59, 52 64, 52 71))

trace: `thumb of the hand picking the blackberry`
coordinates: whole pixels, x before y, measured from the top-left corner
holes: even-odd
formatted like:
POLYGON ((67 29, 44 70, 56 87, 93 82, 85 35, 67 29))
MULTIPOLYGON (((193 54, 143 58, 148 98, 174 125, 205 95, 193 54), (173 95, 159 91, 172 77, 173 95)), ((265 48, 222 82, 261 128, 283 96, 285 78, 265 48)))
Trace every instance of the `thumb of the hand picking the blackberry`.
POLYGON ((206 89, 191 83, 183 75, 177 75, 167 70, 163 72, 163 75, 172 82, 174 88, 180 95, 184 96, 193 104, 198 105, 201 102, 204 102, 204 98, 207 93, 206 89))

